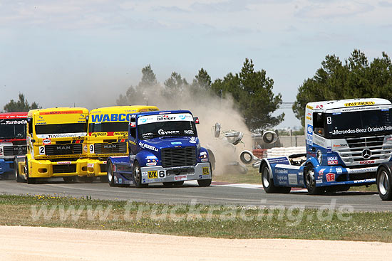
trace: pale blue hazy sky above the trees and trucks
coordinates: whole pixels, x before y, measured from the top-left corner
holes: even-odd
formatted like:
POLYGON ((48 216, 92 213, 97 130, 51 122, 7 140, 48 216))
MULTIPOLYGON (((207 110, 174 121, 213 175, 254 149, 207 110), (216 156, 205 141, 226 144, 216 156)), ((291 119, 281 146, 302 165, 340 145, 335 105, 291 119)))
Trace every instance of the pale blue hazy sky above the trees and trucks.
MULTIPOLYGON (((19 92, 42 107, 115 105, 150 64, 191 82, 245 58, 294 102, 326 55, 392 56, 392 0, 0 0, 0 107, 19 92)), ((300 126, 292 110, 278 127, 300 126)))

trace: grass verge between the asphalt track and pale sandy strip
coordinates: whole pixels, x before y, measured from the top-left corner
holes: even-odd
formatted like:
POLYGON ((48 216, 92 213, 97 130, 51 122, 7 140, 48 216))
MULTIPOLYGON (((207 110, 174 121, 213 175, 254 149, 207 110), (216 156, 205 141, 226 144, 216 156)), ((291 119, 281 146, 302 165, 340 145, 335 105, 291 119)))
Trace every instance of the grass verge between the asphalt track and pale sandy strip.
POLYGON ((392 243, 392 212, 165 205, 61 196, 0 196, 0 225, 123 230, 211 238, 392 243))

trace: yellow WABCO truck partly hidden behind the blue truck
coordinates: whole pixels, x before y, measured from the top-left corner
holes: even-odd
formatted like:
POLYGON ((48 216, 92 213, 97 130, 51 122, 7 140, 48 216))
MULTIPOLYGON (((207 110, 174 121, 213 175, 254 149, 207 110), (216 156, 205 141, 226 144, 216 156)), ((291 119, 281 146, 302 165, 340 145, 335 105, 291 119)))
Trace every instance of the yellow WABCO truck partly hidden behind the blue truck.
POLYGON ((88 117, 87 176, 107 182, 106 160, 109 156, 128 154, 130 114, 157 111, 155 106, 112 106, 90 111, 88 117))

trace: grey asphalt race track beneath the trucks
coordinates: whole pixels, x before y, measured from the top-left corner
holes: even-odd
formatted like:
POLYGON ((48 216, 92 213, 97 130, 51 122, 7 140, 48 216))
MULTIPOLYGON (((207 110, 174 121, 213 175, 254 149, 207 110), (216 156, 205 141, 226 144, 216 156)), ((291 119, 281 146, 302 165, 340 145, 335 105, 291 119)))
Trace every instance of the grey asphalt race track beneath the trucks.
POLYGON ((199 187, 196 183, 185 182, 181 187, 163 187, 161 184, 148 188, 110 187, 107 183, 64 183, 52 179, 44 183, 16 183, 14 180, 0 181, 1 194, 25 195, 60 194, 61 196, 93 199, 148 201, 150 203, 207 203, 242 206, 284 206, 306 208, 335 208, 352 206, 354 211, 392 211, 392 201, 381 201, 377 193, 344 192, 327 196, 309 196, 306 191, 292 191, 289 194, 267 194, 259 186, 219 185, 199 187))

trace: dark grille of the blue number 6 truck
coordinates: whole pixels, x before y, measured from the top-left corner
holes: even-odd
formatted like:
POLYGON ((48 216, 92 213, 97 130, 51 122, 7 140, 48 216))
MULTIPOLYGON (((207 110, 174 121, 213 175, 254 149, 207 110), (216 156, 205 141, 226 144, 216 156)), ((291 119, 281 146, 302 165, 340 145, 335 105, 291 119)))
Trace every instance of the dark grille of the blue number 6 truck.
POLYGON ((195 166, 195 165, 196 165, 195 147, 162 149, 163 168, 171 168, 177 166, 195 166))

